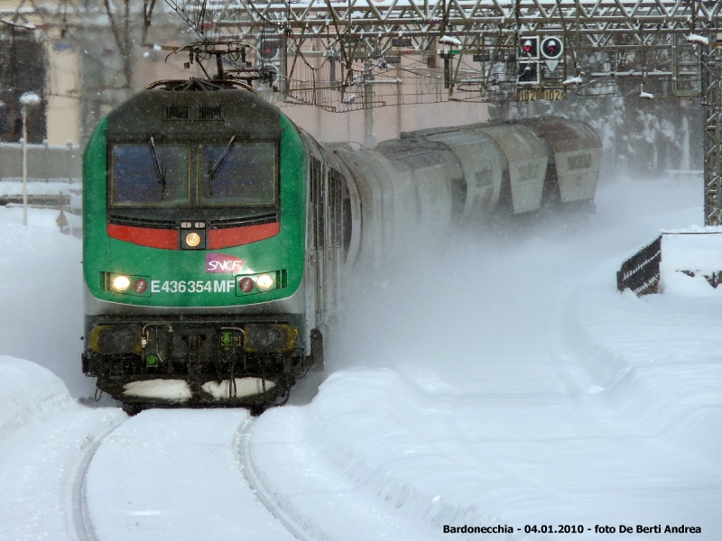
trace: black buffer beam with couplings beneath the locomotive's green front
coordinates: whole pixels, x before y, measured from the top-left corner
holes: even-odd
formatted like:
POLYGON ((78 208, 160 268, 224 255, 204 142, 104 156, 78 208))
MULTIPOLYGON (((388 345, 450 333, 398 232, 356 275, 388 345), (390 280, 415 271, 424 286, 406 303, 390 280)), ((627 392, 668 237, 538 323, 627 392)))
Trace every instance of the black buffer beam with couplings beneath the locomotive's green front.
POLYGON ((149 379, 195 372, 201 381, 201 374, 213 372, 227 377, 229 365, 234 374, 293 371, 292 362, 289 366, 274 359, 303 359, 299 329, 292 325, 295 321, 263 319, 204 316, 143 321, 89 316, 83 370, 96 376, 145 374, 149 379))

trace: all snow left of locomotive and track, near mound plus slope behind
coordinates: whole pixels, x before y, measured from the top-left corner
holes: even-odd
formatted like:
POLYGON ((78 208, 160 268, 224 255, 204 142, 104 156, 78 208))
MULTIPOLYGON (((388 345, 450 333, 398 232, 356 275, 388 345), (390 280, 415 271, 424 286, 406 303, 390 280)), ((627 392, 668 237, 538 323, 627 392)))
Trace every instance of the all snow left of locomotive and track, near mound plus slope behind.
POLYGON ((0 207, 0 539, 82 539, 82 472, 127 417, 69 393, 94 388, 79 362, 81 243, 57 210, 28 210, 23 226, 22 208, 0 207))

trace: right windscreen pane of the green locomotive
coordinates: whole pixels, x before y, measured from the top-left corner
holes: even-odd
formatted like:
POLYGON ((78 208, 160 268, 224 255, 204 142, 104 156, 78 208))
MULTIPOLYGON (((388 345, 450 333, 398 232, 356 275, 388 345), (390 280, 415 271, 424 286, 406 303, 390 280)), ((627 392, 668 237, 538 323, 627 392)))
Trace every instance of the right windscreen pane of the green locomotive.
POLYGON ((198 147, 199 206, 271 206, 276 202, 277 147, 236 142, 198 147))

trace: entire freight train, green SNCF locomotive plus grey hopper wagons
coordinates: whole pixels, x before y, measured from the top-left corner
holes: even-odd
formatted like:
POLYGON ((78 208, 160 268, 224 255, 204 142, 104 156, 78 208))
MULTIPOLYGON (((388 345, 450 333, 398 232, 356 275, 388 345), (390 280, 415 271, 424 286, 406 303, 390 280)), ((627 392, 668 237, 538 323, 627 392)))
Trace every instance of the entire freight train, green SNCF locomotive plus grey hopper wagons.
POLYGON ((550 117, 324 145, 233 80, 161 81, 83 159, 82 368, 128 411, 280 404, 342 278, 408 235, 591 204, 602 145, 550 117))

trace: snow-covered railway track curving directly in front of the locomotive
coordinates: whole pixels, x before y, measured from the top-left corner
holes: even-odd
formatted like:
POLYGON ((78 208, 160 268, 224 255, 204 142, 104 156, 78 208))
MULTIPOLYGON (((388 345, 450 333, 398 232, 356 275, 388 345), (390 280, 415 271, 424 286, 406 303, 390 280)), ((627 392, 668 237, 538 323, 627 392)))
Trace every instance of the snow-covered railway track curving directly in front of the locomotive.
POLYGON ((150 409, 88 442, 72 473, 69 537, 310 541, 239 453, 250 426, 245 410, 150 409))

